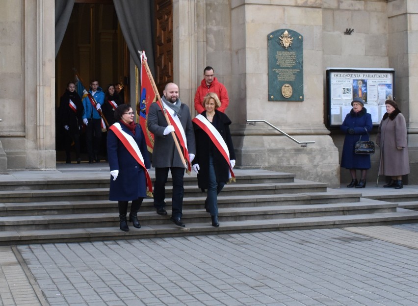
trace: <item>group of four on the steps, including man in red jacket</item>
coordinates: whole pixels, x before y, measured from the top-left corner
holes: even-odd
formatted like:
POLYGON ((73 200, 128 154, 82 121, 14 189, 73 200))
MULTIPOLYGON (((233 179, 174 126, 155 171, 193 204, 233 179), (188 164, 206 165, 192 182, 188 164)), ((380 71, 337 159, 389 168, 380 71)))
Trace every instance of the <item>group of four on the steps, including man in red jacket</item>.
POLYGON ((196 172, 202 192, 207 191, 205 209, 210 214, 211 225, 219 227, 217 196, 233 178, 235 166, 229 128, 231 120, 224 113, 229 99, 225 87, 214 77, 213 68, 205 68, 201 85, 203 88, 198 89, 195 97, 199 114, 193 119, 189 107, 180 100, 179 87, 175 83, 166 84, 161 101, 149 107, 147 128, 154 134, 154 188, 148 174, 151 162, 144 131, 134 122, 131 105, 121 104, 116 108, 116 122, 107 135, 107 156, 111 175, 109 199, 118 201, 121 230, 129 230, 128 222, 135 228, 141 227, 137 212, 152 189, 156 213, 161 216, 168 214, 165 185, 169 172, 173 185, 170 220, 178 227, 185 227, 182 219, 183 177, 187 165, 196 172), (226 106, 222 108, 223 103, 226 106), (170 117, 168 121, 167 116, 170 117), (177 150, 175 139, 186 149, 183 155, 177 150))

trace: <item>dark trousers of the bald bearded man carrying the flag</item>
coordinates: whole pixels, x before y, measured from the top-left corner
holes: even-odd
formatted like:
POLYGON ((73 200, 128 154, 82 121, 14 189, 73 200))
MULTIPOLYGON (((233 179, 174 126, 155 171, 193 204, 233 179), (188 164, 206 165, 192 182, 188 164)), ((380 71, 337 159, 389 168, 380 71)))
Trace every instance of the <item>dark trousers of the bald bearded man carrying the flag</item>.
POLYGON ((173 218, 182 218, 184 168, 156 168, 156 181, 154 182, 154 207, 159 209, 165 206, 165 183, 168 178, 168 170, 171 170, 171 177, 173 178, 173 209, 171 216, 173 218))

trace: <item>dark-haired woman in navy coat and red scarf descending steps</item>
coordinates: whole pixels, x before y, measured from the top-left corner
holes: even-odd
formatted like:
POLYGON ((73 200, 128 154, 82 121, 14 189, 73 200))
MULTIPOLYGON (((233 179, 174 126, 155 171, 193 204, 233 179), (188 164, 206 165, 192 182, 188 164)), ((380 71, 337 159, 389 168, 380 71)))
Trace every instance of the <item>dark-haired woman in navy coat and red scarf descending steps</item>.
MULTIPOLYGON (((126 137, 132 137, 142 154, 144 166, 151 168, 144 133, 139 124, 133 122, 131 105, 122 104, 115 110, 116 123, 120 125, 126 137)), ((132 201, 129 221, 137 229, 141 227, 137 218, 137 212, 141 207, 142 200, 147 196, 146 169, 144 169, 128 151, 118 135, 109 128, 107 134, 107 157, 109 159, 110 179, 109 200, 118 201, 120 229, 128 231, 126 214, 128 201, 132 201)))

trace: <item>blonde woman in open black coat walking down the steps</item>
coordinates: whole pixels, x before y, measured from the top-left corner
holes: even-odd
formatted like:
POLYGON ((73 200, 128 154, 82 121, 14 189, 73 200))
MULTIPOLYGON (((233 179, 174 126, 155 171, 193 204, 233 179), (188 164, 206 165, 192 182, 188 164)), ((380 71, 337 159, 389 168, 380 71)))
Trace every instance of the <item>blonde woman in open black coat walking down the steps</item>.
POLYGON ((206 211, 210 212, 212 226, 219 227, 217 195, 221 192, 225 183, 229 181, 230 169, 235 166, 235 152, 232 144, 229 126, 231 120, 227 115, 217 110, 221 106, 218 96, 209 93, 202 103, 205 107, 200 115, 193 119, 193 128, 196 138, 196 157, 193 160, 193 169, 197 173, 199 188, 208 190, 205 201, 206 211), (212 133, 212 137, 224 145, 216 146, 209 137, 210 127, 218 133, 212 133), (227 148, 225 151, 223 148, 227 148), (223 152, 222 152, 223 151, 223 152), (229 160, 225 156, 229 153, 229 160))

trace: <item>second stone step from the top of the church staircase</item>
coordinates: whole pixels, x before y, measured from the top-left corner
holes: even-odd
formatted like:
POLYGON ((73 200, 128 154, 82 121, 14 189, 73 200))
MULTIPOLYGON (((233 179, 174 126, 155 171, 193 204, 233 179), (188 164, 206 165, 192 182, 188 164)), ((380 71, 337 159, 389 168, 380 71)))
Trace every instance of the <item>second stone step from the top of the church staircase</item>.
MULTIPOLYGON (((227 184, 222 190, 225 196, 246 196, 258 194, 286 194, 303 192, 325 192, 327 185, 304 180, 289 183, 227 184)), ((166 199, 171 198, 171 186, 166 186, 166 199)), ((32 203, 56 201, 107 200, 108 188, 90 189, 52 189, 52 190, 11 190, 0 191, 0 203, 32 203)), ((184 197, 201 196, 197 186, 184 186, 184 197)))

